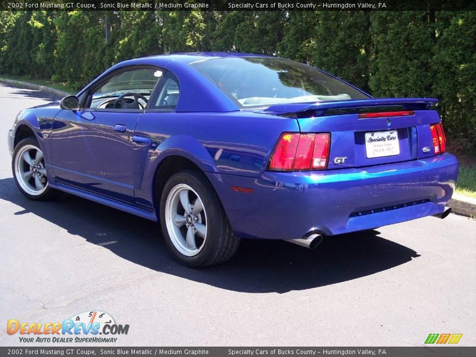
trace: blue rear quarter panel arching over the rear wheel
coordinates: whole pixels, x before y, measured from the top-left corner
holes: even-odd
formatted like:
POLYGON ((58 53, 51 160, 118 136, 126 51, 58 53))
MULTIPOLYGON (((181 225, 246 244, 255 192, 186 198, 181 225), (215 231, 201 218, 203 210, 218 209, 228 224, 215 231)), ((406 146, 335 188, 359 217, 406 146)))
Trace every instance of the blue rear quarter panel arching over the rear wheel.
POLYGON ((135 135, 150 137, 141 189, 136 200, 152 205, 153 179, 160 163, 183 156, 202 171, 258 177, 283 131, 299 131, 295 119, 250 112, 143 114, 135 135))

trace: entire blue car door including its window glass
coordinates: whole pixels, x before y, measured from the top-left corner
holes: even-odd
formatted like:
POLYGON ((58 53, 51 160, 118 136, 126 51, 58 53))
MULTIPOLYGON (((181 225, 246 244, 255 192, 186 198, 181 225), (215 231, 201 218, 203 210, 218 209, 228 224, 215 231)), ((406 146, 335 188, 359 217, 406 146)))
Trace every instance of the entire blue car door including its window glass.
POLYGON ((147 140, 134 130, 161 74, 155 67, 121 68, 87 90, 80 110, 60 111, 50 135, 55 179, 132 203, 134 169, 147 153, 141 150, 147 140))

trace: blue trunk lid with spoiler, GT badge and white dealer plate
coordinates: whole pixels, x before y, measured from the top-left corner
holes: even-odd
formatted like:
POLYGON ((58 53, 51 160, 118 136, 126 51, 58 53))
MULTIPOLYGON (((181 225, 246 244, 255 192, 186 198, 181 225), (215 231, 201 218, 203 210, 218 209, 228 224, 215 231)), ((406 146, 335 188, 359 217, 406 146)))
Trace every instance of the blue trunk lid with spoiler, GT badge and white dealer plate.
POLYGON ((296 118, 304 133, 331 133, 331 170, 433 156, 429 125, 440 121, 431 109, 437 102, 390 98, 293 103, 273 105, 264 112, 296 118))

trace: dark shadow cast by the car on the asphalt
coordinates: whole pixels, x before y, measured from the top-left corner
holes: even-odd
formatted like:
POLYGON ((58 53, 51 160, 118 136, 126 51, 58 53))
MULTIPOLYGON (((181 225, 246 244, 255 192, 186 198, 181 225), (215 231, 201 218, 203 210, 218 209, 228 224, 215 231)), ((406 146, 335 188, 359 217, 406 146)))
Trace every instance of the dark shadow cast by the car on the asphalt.
POLYGON ((132 263, 237 292, 286 293, 337 284, 419 256, 370 231, 325 238, 314 250, 281 240, 245 239, 229 262, 191 269, 171 257, 155 222, 68 194, 56 201, 31 201, 12 178, 0 179, 0 199, 21 207, 15 215, 35 214, 132 263))

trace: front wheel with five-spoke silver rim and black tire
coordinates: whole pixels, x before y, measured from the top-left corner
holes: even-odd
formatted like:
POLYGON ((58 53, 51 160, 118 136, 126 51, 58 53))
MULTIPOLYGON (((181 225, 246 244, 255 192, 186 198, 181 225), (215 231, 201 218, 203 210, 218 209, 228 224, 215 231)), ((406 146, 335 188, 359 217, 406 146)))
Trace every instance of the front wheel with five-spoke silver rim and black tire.
POLYGON ((58 191, 49 186, 43 152, 34 137, 16 145, 11 169, 16 186, 29 199, 45 201, 57 197, 58 191))

